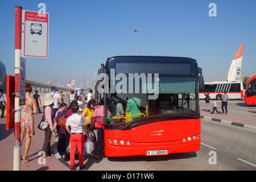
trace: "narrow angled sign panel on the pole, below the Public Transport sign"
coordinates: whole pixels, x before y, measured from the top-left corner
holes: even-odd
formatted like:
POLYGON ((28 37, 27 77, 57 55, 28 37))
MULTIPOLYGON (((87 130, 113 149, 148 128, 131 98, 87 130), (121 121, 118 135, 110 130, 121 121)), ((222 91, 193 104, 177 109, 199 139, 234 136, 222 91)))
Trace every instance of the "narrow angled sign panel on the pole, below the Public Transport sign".
POLYGON ((26 60, 20 57, 19 105, 26 104, 26 60))

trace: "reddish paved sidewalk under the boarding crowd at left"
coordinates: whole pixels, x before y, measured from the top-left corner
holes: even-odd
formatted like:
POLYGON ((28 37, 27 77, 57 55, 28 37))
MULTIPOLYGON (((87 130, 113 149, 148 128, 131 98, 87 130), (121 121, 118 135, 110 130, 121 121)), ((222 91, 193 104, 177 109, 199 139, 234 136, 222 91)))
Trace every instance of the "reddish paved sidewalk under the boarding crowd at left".
MULTIPOLYGON (((43 97, 41 98, 43 102, 43 97)), ((68 96, 64 97, 64 102, 67 103, 68 96)), ((41 107, 43 111, 43 107, 41 107)), ((5 113, 6 114, 6 113, 5 113)), ((40 156, 38 152, 42 150, 44 143, 44 131, 38 129, 38 124, 43 117, 43 113, 35 114, 35 135, 31 138, 30 150, 28 151, 29 162, 23 164, 20 160, 20 171, 69 171, 70 166, 60 160, 60 155, 57 152, 57 137, 52 135, 51 139, 51 159, 46 159, 46 164, 39 164, 40 156)), ((24 155, 26 138, 23 139, 20 147, 20 155, 24 155)), ((13 154, 14 154, 14 129, 6 130, 6 116, 0 118, 0 171, 13 171, 13 154)), ((61 158, 62 159, 62 158, 61 158)), ((41 160, 40 160, 41 161, 41 160)))

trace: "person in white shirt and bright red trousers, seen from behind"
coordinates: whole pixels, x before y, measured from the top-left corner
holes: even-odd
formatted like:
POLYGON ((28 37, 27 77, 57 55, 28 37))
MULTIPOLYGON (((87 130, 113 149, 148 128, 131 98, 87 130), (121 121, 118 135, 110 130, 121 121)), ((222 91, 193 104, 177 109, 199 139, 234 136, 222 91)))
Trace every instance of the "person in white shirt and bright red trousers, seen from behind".
POLYGON ((88 137, 88 133, 84 124, 84 118, 79 115, 79 106, 78 105, 72 105, 71 106, 72 115, 68 117, 66 122, 66 130, 69 134, 71 134, 70 137, 70 144, 71 144, 71 152, 70 152, 70 160, 71 160, 71 166, 77 167, 75 163, 75 152, 76 147, 78 148, 79 152, 79 167, 80 170, 84 169, 84 133, 86 137, 88 137), (71 127, 71 130, 69 129, 69 126, 71 127), (83 133, 84 132, 84 133, 83 133))

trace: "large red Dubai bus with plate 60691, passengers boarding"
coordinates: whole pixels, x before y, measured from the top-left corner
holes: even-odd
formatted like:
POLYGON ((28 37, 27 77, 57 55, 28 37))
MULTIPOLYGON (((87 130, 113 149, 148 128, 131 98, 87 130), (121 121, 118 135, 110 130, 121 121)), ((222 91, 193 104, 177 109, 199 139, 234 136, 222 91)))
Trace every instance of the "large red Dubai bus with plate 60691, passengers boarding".
POLYGON ((187 57, 108 58, 96 84, 96 100, 105 99, 105 155, 198 151, 199 80, 197 61, 187 57))

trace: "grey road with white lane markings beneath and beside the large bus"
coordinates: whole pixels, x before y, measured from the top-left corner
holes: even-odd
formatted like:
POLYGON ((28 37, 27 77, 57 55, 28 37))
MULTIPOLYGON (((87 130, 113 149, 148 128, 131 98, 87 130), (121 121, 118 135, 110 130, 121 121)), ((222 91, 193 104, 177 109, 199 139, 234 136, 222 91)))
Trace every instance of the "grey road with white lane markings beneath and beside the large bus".
MULTIPOLYGON (((211 101, 212 102, 212 101, 211 101)), ((217 101, 221 111, 221 101, 217 101)), ((205 101, 200 100, 204 109, 205 101)), ((229 113, 256 117, 256 107, 230 100, 229 113)), ((164 156, 130 156, 97 161, 85 156, 88 171, 255 171, 256 130, 201 119, 201 146, 196 152, 164 156)))

